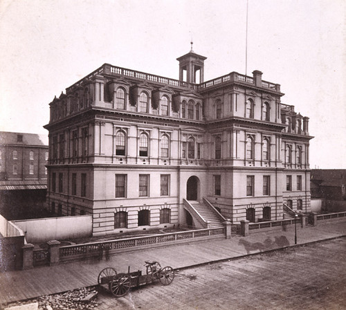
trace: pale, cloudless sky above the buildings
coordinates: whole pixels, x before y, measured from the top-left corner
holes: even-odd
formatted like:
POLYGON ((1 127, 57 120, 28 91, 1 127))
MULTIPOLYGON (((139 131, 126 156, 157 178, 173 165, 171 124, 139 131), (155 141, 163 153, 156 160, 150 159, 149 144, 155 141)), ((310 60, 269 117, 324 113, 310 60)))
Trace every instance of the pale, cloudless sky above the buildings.
POLYGON ((179 79, 263 72, 308 116, 311 168, 346 169, 346 1, 1 0, 0 130, 48 134, 49 102, 104 63, 179 79))

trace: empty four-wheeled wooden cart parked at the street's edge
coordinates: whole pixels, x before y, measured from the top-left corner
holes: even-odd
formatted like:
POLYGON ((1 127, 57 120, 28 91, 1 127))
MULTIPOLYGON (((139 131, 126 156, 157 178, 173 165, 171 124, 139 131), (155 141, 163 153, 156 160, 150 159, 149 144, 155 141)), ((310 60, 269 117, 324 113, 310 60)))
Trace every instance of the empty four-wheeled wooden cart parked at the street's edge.
POLYGON ((131 287, 153 283, 159 280, 163 285, 169 285, 174 279, 174 270, 170 266, 161 268, 159 262, 145 262, 146 274, 142 271, 127 273, 117 273, 116 269, 107 267, 102 269, 98 275, 98 284, 111 291, 116 297, 121 297, 129 293, 131 287))

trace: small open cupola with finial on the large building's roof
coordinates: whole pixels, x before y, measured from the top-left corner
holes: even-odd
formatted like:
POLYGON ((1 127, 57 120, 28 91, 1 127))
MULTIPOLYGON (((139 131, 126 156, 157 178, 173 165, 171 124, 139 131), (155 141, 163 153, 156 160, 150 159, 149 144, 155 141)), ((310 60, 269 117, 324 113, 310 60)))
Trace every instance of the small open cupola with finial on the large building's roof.
POLYGON ((179 61, 179 81, 200 84, 203 83, 204 60, 207 57, 194 53, 192 44, 189 53, 176 58, 179 61))

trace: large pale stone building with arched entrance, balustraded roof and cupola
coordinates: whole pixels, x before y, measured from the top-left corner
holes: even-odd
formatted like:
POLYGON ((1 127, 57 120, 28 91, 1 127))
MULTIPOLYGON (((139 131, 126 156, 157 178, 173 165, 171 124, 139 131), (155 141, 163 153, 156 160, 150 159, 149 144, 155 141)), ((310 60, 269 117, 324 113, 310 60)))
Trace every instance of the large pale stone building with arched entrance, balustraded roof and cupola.
POLYGON ((309 212, 309 118, 260 71, 203 82, 206 57, 177 60, 179 80, 104 64, 54 98, 51 210, 94 234, 309 212))

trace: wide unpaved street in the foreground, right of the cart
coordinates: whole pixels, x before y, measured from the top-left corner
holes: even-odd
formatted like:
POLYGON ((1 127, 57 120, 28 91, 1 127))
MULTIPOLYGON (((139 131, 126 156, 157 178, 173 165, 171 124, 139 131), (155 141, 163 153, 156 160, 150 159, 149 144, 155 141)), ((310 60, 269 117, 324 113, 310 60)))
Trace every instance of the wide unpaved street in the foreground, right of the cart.
POLYGON ((345 309, 346 239, 179 271, 172 284, 100 293, 98 309, 345 309))

